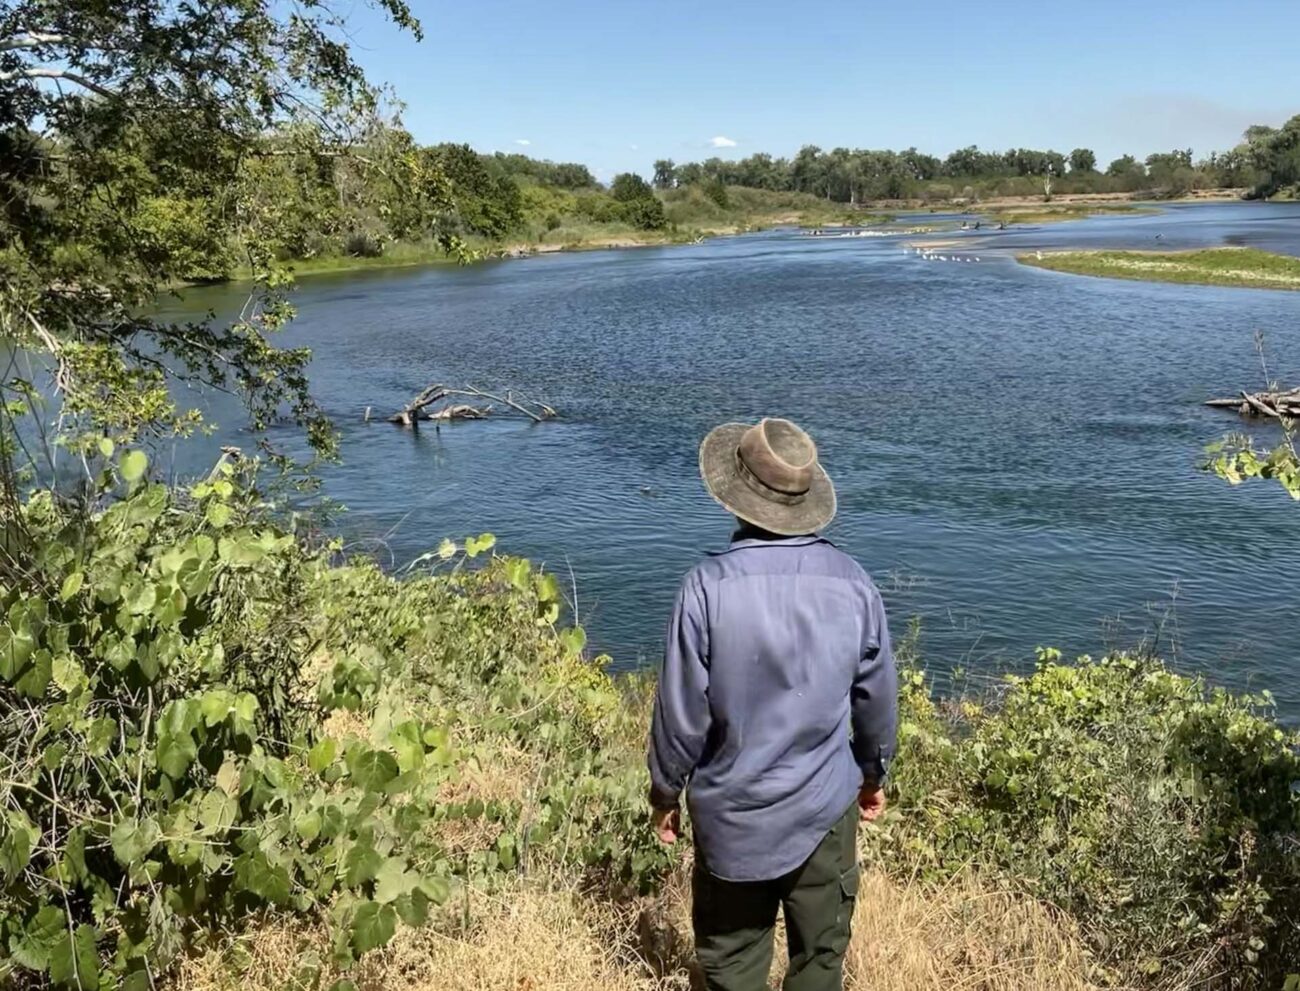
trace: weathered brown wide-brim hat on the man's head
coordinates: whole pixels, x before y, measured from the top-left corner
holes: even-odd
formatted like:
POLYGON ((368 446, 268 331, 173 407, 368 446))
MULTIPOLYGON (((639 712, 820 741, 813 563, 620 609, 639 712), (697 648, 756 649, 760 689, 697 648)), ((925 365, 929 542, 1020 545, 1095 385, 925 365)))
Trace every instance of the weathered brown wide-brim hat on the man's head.
POLYGON ((699 475, 725 510, 768 533, 812 533, 835 518, 816 445, 789 420, 714 428, 699 445, 699 475))

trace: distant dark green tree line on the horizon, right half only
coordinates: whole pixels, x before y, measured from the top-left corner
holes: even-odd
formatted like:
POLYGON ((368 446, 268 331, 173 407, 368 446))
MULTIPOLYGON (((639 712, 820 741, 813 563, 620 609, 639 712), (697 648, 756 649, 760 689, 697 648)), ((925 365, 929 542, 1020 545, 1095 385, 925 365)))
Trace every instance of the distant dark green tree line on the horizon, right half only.
POLYGON ((1091 148, 1069 153, 1011 148, 994 152, 976 146, 959 148, 945 159, 916 148, 872 151, 815 144, 792 159, 759 152, 745 159, 711 157, 676 164, 654 164, 654 185, 748 186, 807 192, 838 203, 893 199, 953 199, 972 195, 1032 195, 1057 192, 1138 192, 1182 195, 1197 189, 1247 189, 1270 196, 1300 182, 1300 116, 1280 129, 1254 126, 1240 144, 1193 160, 1192 150, 1174 150, 1138 160, 1123 155, 1104 170, 1091 148))

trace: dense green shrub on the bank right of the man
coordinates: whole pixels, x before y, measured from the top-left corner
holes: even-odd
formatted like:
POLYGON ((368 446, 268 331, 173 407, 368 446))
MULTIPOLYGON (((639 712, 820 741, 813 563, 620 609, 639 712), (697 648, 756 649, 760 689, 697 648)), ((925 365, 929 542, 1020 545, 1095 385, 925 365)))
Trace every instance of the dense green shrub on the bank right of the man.
POLYGON ((1199 956, 1270 987, 1300 960, 1300 757, 1268 696, 1044 650, 993 705, 946 707, 905 679, 883 849, 1018 879, 1126 981, 1199 956))

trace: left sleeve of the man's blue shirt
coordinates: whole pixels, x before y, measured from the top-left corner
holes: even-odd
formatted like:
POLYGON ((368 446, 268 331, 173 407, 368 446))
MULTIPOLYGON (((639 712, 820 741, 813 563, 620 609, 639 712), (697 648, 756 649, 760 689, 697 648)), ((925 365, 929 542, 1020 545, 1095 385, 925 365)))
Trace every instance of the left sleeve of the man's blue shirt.
POLYGON ((708 710, 708 616, 699 581, 677 593, 650 724, 650 804, 676 808, 705 750, 708 710))

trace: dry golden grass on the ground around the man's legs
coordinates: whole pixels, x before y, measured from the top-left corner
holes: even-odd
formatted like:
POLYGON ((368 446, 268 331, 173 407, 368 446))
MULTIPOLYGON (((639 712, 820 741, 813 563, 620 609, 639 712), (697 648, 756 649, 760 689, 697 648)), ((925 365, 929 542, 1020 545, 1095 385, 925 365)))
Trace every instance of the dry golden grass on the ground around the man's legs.
MULTIPOLYGON (((640 921, 628 906, 523 880, 491 896, 476 893, 468 929, 455 918, 459 909, 441 923, 402 929, 352 978, 359 991, 686 991, 693 978, 685 878, 671 879, 640 921)), ((187 961, 172 988, 280 991, 311 952, 328 956, 321 929, 265 923, 187 961)), ((779 930, 774 988, 784 953, 779 930)), ((846 964, 846 991, 1092 988, 1069 926, 1037 903, 974 877, 927 890, 866 873, 846 964)), ((333 975, 322 978, 328 987, 333 975)))

